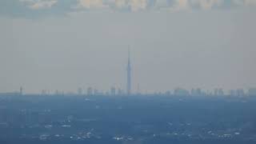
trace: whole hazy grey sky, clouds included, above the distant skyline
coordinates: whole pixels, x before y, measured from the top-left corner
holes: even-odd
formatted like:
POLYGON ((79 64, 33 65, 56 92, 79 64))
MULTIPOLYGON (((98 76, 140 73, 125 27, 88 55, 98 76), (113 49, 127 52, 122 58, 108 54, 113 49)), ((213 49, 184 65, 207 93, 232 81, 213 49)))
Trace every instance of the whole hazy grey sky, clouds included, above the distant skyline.
POLYGON ((256 87, 254 0, 1 0, 0 91, 256 87))

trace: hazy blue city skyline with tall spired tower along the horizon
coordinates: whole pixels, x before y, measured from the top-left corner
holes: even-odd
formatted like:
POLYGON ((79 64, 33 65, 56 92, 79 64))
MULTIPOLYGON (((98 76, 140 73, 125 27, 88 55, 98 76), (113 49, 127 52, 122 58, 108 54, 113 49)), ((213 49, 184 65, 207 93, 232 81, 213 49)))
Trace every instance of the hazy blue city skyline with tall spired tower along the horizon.
MULTIPOLYGON (((241 93, 242 95, 246 95, 247 93, 250 93, 250 90, 253 90, 255 93, 256 88, 254 86, 250 87, 238 87, 235 89, 223 89, 222 87, 211 87, 210 89, 202 89, 201 87, 192 87, 191 89, 186 89, 183 86, 175 86, 167 90, 139 90, 139 88, 135 89, 135 87, 132 86, 132 68, 131 68, 131 62, 130 62, 130 45, 128 46, 127 49, 127 65, 122 66, 126 67, 126 70, 124 71, 125 73, 123 76, 126 75, 126 80, 124 83, 126 84, 121 84, 121 86, 114 85, 114 86, 109 86, 108 89, 98 89, 97 86, 78 86, 77 91, 76 90, 58 90, 58 89, 41 89, 37 90, 36 92, 31 92, 31 91, 26 91, 25 94, 86 94, 86 95, 131 95, 131 94, 174 94, 175 90, 186 90, 186 94, 193 95, 194 90, 200 90, 200 94, 202 92, 203 95, 228 95, 232 93, 234 95, 237 95, 237 93, 241 93), (216 94, 216 90, 221 90, 221 94, 216 94), (114 91, 114 93, 113 93, 114 91)), ((134 72, 133 72, 134 73, 134 72)), ((135 84, 134 84, 135 85, 135 84)), ((139 86, 139 83, 138 83, 139 86)), ((19 90, 10 90, 10 91, 0 91, 0 94, 23 94, 23 86, 19 87, 19 90)), ((219 92, 217 92, 219 93, 219 92)), ((199 93, 198 93, 199 94, 199 93)))

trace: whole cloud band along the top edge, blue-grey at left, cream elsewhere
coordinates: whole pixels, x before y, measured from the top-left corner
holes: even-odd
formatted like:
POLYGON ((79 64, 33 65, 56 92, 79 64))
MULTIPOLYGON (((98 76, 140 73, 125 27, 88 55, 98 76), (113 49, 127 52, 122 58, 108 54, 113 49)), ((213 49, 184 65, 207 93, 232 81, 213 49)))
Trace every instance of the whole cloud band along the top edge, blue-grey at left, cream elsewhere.
POLYGON ((83 10, 177 12, 255 7, 256 0, 0 0, 0 15, 36 18, 83 10))

